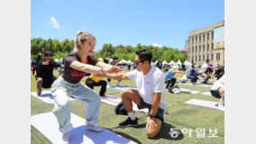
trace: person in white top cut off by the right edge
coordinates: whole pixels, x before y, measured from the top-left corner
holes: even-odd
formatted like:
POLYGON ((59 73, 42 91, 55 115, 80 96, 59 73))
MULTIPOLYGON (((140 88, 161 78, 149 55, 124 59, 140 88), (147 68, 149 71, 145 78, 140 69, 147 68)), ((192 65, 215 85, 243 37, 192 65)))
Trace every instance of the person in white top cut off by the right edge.
POLYGON ((211 94, 215 98, 221 99, 219 105, 224 106, 224 76, 217 80, 215 84, 211 87, 211 94))

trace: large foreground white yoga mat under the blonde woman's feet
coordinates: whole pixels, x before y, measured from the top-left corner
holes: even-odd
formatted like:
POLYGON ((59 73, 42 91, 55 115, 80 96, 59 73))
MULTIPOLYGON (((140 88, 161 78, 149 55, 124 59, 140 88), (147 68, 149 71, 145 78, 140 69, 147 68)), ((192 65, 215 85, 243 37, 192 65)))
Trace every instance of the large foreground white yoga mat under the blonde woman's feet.
MULTIPOLYGON (((134 141, 123 138, 111 130, 103 129, 102 132, 86 130, 85 121, 85 119, 71 113, 71 123, 73 124, 73 130, 69 131, 70 144, 135 144, 134 141)), ((59 132, 58 121, 52 112, 33 115, 31 117, 31 124, 53 144, 59 143, 59 139, 61 139, 62 134, 59 132)))

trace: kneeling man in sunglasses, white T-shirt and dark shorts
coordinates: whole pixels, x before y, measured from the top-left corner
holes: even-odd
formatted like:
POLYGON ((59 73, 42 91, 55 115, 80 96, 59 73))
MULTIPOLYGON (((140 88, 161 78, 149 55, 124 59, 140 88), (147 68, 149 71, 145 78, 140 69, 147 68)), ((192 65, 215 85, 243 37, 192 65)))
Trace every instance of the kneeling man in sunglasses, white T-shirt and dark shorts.
POLYGON ((139 109, 149 109, 146 134, 153 138, 160 131, 167 102, 165 100, 164 75, 158 67, 151 66, 151 58, 152 54, 148 49, 138 50, 134 61, 136 69, 126 74, 105 74, 104 76, 115 80, 135 80, 138 90, 125 89, 121 92, 123 105, 129 117, 120 122, 119 126, 138 125, 138 119, 133 113, 132 102, 134 102, 139 109))

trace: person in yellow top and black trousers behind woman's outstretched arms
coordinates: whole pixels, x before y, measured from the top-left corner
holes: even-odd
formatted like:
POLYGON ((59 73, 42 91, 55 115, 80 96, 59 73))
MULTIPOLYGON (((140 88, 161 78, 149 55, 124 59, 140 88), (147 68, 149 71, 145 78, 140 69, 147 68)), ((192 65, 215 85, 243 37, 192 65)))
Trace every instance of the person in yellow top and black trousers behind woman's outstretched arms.
MULTIPOLYGON (((103 58, 98 58, 101 62, 103 62, 103 58)), ((94 76, 94 74, 91 74, 86 80, 86 85, 90 87, 91 89, 94 89, 94 86, 101 86, 99 95, 105 96, 105 90, 106 90, 106 81, 101 80, 101 77, 94 76)))

